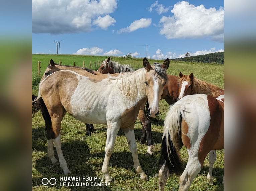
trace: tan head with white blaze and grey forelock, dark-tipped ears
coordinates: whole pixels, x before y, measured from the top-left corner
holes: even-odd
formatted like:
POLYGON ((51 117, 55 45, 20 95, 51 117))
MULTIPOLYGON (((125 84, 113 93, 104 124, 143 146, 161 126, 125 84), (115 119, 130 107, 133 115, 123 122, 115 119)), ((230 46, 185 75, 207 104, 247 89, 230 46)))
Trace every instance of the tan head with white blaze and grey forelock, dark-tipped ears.
POLYGON ((159 114, 159 102, 163 93, 164 85, 168 82, 166 70, 170 60, 167 58, 163 64, 154 63, 152 66, 146 58, 143 59, 143 66, 147 70, 145 76, 146 95, 149 103, 148 115, 156 117, 159 114))

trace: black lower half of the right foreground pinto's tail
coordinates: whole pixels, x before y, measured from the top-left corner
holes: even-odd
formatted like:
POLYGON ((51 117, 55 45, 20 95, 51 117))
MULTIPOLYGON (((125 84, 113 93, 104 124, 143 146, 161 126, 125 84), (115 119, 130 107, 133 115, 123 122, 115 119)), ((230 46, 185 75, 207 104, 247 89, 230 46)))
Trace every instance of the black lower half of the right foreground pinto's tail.
MULTIPOLYGON (((183 162, 177 155, 177 151, 171 141, 170 135, 168 136, 168 139, 168 146, 168 143, 166 142, 166 135, 164 135, 162 139, 161 154, 158 162, 158 171, 165 164, 165 170, 169 170, 170 174, 175 173, 177 175, 180 175, 184 171, 183 162)), ((167 172, 163 172, 163 174, 166 175, 167 172)))

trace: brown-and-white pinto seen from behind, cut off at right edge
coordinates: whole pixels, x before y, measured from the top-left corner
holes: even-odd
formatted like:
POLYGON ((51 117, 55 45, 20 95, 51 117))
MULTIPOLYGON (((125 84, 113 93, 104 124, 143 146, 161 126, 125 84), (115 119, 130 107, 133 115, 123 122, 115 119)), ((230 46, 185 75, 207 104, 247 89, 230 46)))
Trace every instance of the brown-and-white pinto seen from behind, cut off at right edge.
MULTIPOLYGON (((159 190, 164 190, 170 174, 182 175, 179 190, 189 189, 211 150, 224 149, 224 95, 187 95, 170 106, 164 121, 159 158, 159 190), (179 150, 185 146, 188 162, 183 171, 179 150)), ((210 160, 209 160, 210 161, 210 160)), ((214 161, 210 161, 210 164, 214 161)), ((223 178, 224 185, 224 178, 223 178)))

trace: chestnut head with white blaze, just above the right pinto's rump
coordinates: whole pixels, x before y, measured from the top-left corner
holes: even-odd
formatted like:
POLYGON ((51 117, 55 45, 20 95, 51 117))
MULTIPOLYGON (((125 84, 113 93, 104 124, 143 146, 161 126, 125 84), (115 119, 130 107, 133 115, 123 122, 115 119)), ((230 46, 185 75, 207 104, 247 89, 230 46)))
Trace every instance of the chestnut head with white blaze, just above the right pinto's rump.
POLYGON ((182 97, 184 97, 186 95, 192 94, 194 75, 193 75, 193 73, 191 73, 190 75, 183 75, 180 72, 179 77, 180 77, 180 79, 178 80, 178 86, 179 86, 178 99, 181 99, 182 97))

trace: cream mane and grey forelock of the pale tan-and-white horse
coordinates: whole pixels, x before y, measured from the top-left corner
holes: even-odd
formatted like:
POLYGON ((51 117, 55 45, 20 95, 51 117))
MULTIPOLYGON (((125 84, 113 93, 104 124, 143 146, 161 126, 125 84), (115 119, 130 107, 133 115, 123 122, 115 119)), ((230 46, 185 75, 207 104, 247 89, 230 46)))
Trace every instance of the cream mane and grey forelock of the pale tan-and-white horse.
MULTIPOLYGON (((155 73, 159 75, 166 83, 168 77, 166 70, 161 67, 162 64, 154 63, 155 73)), ((124 95, 130 100, 135 101, 137 98, 141 99, 145 97, 145 75, 146 70, 144 68, 138 69, 134 72, 120 73, 120 75, 113 77, 108 76, 108 79, 116 80, 116 87, 120 89, 124 95)))

